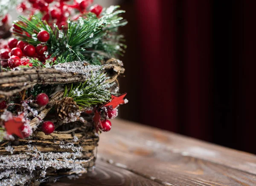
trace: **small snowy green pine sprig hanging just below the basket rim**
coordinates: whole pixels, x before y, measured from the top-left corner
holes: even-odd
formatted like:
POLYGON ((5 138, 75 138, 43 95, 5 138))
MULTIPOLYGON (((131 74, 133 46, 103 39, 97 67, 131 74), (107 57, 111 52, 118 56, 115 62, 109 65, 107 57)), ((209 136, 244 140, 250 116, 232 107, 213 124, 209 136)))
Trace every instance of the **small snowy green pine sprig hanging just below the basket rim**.
POLYGON ((108 83, 106 74, 100 72, 84 83, 71 87, 65 87, 64 97, 73 97, 74 101, 81 107, 88 107, 96 104, 106 103, 111 99, 111 92, 108 90, 112 84, 108 83))

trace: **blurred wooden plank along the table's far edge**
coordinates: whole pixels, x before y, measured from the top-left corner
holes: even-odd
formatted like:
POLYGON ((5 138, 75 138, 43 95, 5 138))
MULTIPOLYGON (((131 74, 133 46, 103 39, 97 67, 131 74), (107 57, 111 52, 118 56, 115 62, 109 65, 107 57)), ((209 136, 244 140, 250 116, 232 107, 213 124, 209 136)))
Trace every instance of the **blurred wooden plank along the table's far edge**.
POLYGON ((196 157, 256 175, 256 155, 124 120, 112 120, 112 123, 111 131, 100 135, 100 153, 109 148, 131 153, 132 149, 144 147, 196 157))

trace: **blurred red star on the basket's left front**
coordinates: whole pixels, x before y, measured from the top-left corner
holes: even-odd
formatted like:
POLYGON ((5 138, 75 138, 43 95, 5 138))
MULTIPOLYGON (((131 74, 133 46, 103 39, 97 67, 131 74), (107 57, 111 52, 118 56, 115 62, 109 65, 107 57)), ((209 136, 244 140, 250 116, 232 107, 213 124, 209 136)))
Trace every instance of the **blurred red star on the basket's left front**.
POLYGON ((5 123, 5 128, 7 134, 15 134, 20 138, 23 138, 23 134, 20 131, 20 127, 24 125, 22 122, 21 117, 13 117, 12 119, 6 121, 5 123))

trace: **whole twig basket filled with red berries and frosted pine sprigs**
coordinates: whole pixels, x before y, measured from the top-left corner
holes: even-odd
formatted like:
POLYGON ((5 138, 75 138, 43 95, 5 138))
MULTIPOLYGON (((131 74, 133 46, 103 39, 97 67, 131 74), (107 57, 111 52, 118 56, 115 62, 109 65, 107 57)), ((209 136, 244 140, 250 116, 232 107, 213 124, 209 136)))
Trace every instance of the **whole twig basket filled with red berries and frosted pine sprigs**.
POLYGON ((116 59, 119 6, 93 0, 0 3, 0 186, 36 186, 95 165, 101 132, 127 103, 116 59), (13 21, 8 12, 21 12, 13 21), (29 16, 25 16, 29 15, 29 16), (6 28, 8 31, 6 31, 6 28))

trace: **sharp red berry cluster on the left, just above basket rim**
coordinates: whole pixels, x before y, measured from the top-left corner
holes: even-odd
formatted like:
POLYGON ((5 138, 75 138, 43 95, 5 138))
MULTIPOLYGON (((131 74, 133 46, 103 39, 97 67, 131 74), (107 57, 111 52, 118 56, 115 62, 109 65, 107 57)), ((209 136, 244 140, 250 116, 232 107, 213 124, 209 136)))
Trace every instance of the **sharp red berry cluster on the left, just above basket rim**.
MULTIPOLYGON (((13 28, 15 31, 21 31, 20 27, 14 25, 13 28)), ((0 50, 0 60, 1 66, 15 68, 17 66, 32 66, 32 63, 29 63, 29 58, 35 57, 39 61, 44 63, 49 57, 45 57, 45 52, 47 52, 48 47, 44 44, 50 38, 50 34, 47 31, 40 31, 37 35, 37 38, 42 43, 37 46, 30 45, 24 41, 18 41, 15 38, 10 38, 8 45, 2 46, 4 49, 0 50), (23 58, 21 58, 23 57, 23 58)))

